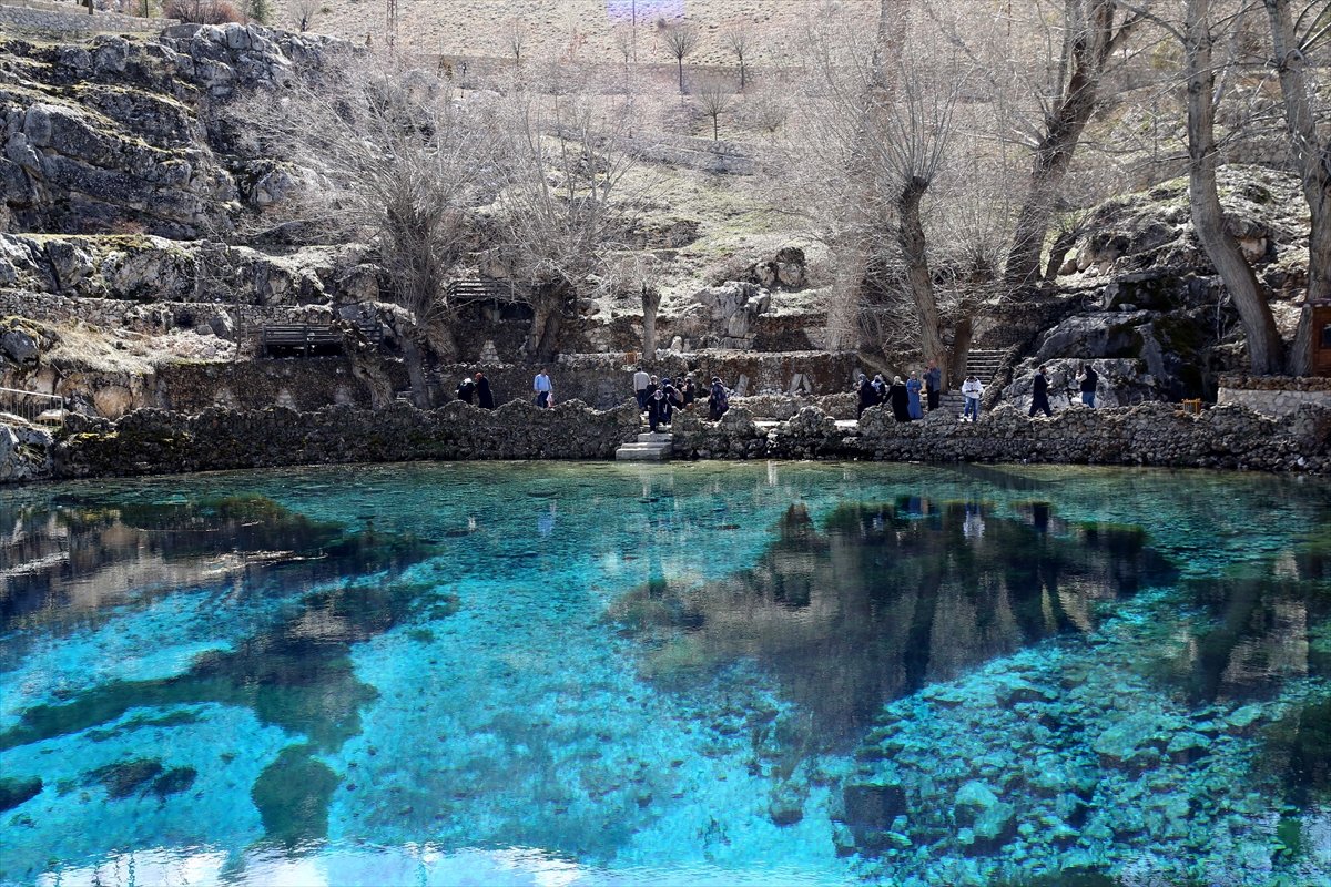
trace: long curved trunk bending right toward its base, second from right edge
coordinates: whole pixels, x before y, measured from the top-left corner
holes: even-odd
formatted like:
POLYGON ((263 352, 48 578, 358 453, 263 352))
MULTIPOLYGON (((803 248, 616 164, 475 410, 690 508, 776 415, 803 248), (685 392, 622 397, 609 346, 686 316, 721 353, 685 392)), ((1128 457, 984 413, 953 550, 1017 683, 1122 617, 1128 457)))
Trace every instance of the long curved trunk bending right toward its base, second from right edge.
POLYGON ((1248 364, 1266 375, 1282 368, 1280 335, 1266 294, 1225 226, 1215 186, 1215 70, 1211 66, 1210 0, 1187 0, 1185 23, 1187 65, 1187 195, 1193 227, 1206 255, 1219 273, 1243 320, 1248 364))

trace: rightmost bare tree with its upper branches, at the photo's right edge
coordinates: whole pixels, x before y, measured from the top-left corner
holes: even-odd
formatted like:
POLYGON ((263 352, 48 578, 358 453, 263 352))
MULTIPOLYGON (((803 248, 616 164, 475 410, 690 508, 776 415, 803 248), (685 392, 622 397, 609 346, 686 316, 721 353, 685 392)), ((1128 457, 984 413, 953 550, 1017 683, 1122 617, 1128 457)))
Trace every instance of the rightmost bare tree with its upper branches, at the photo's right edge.
POLYGON ((1306 76, 1312 53, 1331 44, 1331 5, 1324 1, 1306 3, 1298 17, 1294 15, 1295 5, 1291 0, 1266 0, 1290 152, 1303 181, 1303 197, 1308 201, 1311 217, 1308 290, 1290 355, 1290 371, 1304 375, 1311 358, 1311 306, 1331 299, 1331 102, 1319 98, 1306 76))

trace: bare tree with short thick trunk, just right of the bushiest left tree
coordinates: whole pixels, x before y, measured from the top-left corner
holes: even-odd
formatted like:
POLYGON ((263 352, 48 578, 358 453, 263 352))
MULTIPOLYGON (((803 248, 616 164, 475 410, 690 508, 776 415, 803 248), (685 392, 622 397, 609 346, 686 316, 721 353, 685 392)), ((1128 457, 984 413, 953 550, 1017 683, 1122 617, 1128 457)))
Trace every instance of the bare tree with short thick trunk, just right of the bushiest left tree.
POLYGON ((531 358, 558 352, 579 293, 626 247, 644 197, 631 178, 635 113, 631 98, 594 89, 512 92, 500 106, 495 221, 512 275, 531 287, 531 358))

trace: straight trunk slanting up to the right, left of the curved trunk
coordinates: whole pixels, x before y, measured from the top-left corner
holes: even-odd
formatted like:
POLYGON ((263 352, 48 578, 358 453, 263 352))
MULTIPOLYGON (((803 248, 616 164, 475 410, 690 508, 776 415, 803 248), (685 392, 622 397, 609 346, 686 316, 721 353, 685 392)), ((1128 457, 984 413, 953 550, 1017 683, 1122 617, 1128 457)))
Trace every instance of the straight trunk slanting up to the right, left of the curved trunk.
POLYGON ((1018 291, 1040 279, 1040 254, 1062 185, 1082 130, 1095 110, 1105 60, 1114 43, 1115 0, 1087 0, 1086 32, 1071 44, 1071 73, 1058 104, 1045 120, 1045 134, 1036 146, 1026 199, 1017 214, 1012 250, 1004 266, 1004 286, 1018 291))

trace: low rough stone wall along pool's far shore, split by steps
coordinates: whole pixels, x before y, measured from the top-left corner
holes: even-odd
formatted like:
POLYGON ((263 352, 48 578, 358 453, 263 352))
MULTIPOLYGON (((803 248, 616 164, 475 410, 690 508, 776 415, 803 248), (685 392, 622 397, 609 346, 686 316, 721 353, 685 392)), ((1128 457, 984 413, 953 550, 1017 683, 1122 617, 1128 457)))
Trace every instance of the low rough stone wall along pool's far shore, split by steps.
MULTIPOLYGON (((614 459, 642 431, 638 404, 592 410, 578 400, 540 410, 522 402, 487 411, 461 402, 422 411, 335 406, 141 410, 118 422, 71 416, 53 440, 0 428, 0 481, 165 475, 339 463, 614 459)), ((1222 406, 1199 415, 1167 403, 1029 419, 1001 406, 977 423, 945 412, 897 423, 866 410, 858 423, 804 407, 784 422, 755 420, 733 407, 716 423, 676 414, 675 459, 860 459, 888 461, 1057 463, 1230 468, 1331 473, 1331 410, 1304 406, 1271 419, 1222 406)))

